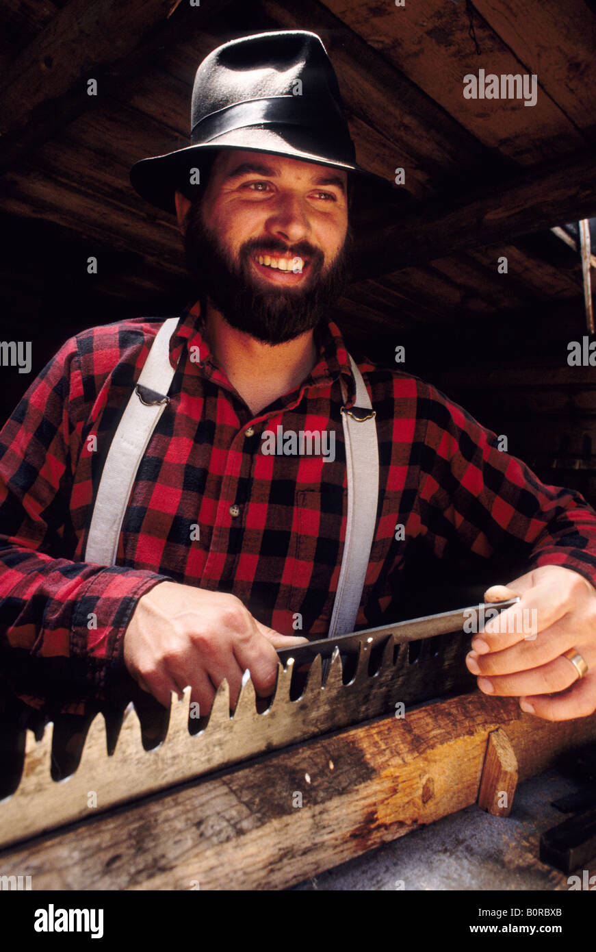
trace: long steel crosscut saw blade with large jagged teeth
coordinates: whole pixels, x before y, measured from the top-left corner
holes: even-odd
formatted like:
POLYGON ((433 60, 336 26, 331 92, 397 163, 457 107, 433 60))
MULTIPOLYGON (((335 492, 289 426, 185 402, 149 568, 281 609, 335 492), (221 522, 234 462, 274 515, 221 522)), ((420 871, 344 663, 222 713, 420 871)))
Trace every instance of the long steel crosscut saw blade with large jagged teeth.
MULTIPOLYGON (((464 659, 471 634, 481 630, 489 612, 518 601, 472 605, 279 649, 278 680, 264 710, 258 709, 262 704, 248 678, 231 711, 223 681, 208 718, 198 725, 187 687, 183 700, 170 708, 163 743, 150 750, 141 743, 142 726, 133 705, 122 712, 116 731, 97 714, 84 728, 80 764, 60 782, 52 780, 51 765, 57 739, 68 745, 64 724, 56 718, 39 741, 27 731, 20 783, 0 802, 0 845, 391 710, 403 716, 400 706, 403 711, 407 704, 469 690, 475 678, 464 659), (310 667, 300 679, 305 663, 310 667)), ((78 738, 70 730, 80 743, 81 728, 78 738)), ((0 750, 0 757, 7 753, 13 751, 0 750)))

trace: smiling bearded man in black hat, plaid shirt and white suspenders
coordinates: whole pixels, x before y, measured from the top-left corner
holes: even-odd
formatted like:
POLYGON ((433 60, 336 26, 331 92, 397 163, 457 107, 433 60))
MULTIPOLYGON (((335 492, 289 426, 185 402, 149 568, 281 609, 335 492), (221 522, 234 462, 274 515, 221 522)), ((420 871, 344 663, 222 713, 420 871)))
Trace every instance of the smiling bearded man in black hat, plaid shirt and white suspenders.
POLYGON ((81 712, 127 671, 164 706, 190 684, 203 714, 223 678, 235 703, 246 669, 270 693, 276 647, 329 630, 349 505, 342 415, 357 427, 375 414, 378 504, 356 627, 389 620, 415 545, 523 557, 509 588, 536 630, 495 620, 474 637, 470 670, 539 717, 594 711, 594 511, 434 387, 356 367, 328 320, 367 211, 390 208, 395 189, 356 165, 317 35, 214 50, 195 80, 191 145, 141 161, 131 180, 175 207, 199 300, 167 332, 166 387, 140 376, 162 320, 95 327, 62 347, 2 431, 2 650, 19 697, 81 712), (373 412, 360 412, 362 393, 373 412), (134 426, 114 436, 128 407, 139 420, 157 407, 134 466, 134 426), (333 433, 334 460, 265 454, 263 434, 279 427, 333 433))

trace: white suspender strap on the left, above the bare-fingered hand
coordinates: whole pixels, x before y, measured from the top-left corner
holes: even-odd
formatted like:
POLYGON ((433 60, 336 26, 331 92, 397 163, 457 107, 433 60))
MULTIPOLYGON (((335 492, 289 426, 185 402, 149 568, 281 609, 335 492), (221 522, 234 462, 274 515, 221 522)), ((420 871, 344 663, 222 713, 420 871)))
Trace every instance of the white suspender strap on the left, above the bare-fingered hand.
POLYGON ((175 373, 169 359, 169 342, 178 320, 170 317, 158 330, 112 439, 89 526, 86 562, 116 562, 130 491, 153 430, 169 403, 166 394, 175 373))

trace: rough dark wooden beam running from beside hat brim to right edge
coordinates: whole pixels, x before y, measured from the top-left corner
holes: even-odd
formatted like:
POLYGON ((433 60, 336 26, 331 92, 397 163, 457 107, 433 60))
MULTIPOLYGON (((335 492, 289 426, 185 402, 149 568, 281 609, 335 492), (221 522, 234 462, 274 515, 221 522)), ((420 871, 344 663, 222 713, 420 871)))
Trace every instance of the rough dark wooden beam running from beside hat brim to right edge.
POLYGON ((582 150, 484 192, 440 206, 433 201, 404 214, 359 249, 355 270, 373 277, 594 214, 596 155, 582 150))

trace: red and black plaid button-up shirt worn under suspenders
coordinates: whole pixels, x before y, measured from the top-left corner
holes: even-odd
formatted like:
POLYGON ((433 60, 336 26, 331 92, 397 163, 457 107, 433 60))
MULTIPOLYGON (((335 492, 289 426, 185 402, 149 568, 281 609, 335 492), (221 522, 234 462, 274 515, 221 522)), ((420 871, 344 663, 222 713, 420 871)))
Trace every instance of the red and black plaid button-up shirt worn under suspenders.
MULTIPOLYGON (((332 323, 317 333, 306 380, 253 417, 209 355, 200 308, 188 308, 171 338, 171 399, 137 474, 117 565, 83 562, 109 441, 162 320, 67 341, 0 433, 0 653, 29 704, 52 689, 65 711, 101 698, 123 670, 138 599, 163 580, 233 592, 284 634, 320 637, 329 625, 346 527, 340 377, 348 405, 355 394, 332 323), (335 462, 264 454, 261 433, 278 426, 333 431, 335 462)), ((596 585, 596 514, 578 493, 543 485, 434 387, 359 366, 376 410, 380 492, 357 625, 381 624, 399 601, 414 543, 441 558, 523 553, 529 566, 565 565, 596 585)))

